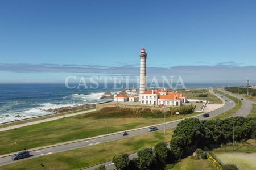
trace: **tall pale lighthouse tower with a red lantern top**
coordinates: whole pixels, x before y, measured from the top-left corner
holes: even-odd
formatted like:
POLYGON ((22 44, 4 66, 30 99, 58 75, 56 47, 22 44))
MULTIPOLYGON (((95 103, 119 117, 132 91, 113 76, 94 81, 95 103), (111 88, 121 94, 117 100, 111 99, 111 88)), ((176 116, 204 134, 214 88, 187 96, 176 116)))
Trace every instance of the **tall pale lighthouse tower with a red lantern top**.
POLYGON ((146 92, 146 59, 147 59, 147 53, 144 48, 141 49, 141 53, 139 54, 139 57, 141 58, 141 69, 139 71, 139 94, 143 94, 146 92))

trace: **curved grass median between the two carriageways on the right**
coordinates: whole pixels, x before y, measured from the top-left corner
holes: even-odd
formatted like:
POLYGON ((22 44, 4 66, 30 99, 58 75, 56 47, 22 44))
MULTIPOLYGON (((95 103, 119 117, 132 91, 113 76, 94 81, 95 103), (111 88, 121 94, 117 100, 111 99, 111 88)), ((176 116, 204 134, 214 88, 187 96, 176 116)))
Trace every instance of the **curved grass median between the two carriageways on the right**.
MULTIPOLYGON (((224 94, 223 92, 218 91, 218 90, 214 90, 214 92, 217 92, 218 94, 221 94, 221 95, 224 94)), ((238 103, 238 100, 236 97, 229 96, 229 95, 226 95, 226 97, 229 98, 230 100, 233 100, 236 105, 232 109, 229 109, 228 111, 221 113, 218 116, 215 116, 213 118, 220 118, 223 120, 225 118, 228 118, 230 115, 236 113, 241 108, 242 102, 239 101, 239 103, 238 103)))

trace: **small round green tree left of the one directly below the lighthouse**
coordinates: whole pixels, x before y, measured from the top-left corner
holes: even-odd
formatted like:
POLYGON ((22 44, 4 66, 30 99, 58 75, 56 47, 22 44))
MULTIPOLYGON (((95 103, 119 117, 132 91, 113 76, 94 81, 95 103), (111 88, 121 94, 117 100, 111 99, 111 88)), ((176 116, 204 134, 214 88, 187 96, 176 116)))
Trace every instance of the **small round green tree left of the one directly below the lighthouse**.
POLYGON ((129 169, 130 159, 128 154, 118 154, 114 156, 112 162, 117 170, 129 169))

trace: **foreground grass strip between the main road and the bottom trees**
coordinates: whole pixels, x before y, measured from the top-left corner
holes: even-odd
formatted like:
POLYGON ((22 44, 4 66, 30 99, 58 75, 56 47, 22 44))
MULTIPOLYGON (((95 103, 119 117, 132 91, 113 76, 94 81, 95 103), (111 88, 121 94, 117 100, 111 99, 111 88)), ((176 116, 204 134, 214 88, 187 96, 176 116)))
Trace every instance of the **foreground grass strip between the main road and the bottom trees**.
POLYGON ((167 129, 166 135, 163 130, 159 130, 113 142, 28 159, 2 166, 0 169, 81 169, 111 160, 113 156, 120 153, 131 154, 141 147, 152 147, 158 142, 170 141, 173 130, 167 129), (41 167, 41 163, 44 164, 44 167, 41 167))

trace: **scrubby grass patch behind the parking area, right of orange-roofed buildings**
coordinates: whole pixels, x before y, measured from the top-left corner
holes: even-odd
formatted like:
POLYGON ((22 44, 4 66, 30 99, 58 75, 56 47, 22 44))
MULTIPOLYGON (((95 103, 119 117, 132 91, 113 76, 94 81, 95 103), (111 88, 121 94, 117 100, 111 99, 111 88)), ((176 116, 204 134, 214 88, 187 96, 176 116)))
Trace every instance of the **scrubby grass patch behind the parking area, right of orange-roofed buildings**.
POLYGON ((218 97, 211 94, 207 89, 196 89, 196 90, 178 90, 179 92, 185 94, 188 99, 199 99, 213 101, 214 103, 222 103, 218 97), (199 97, 200 94, 207 94, 207 97, 199 97))

